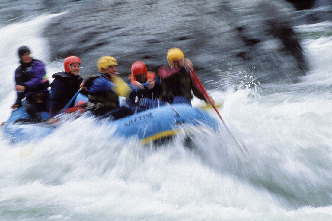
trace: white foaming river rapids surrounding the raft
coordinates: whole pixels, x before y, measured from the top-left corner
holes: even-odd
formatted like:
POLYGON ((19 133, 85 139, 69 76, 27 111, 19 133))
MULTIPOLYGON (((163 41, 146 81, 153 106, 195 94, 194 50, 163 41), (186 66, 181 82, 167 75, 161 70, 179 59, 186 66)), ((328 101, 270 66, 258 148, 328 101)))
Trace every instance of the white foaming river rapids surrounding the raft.
MULTIPOLYGON (((53 16, 0 29, 1 122, 15 100, 20 45, 49 75, 62 70, 42 37, 53 16)), ((213 82, 209 93, 247 161, 220 133, 197 132, 194 149, 182 135, 155 148, 80 117, 39 142, 0 139, 0 220, 332 220, 331 27, 296 27, 311 66, 300 83, 213 82)))

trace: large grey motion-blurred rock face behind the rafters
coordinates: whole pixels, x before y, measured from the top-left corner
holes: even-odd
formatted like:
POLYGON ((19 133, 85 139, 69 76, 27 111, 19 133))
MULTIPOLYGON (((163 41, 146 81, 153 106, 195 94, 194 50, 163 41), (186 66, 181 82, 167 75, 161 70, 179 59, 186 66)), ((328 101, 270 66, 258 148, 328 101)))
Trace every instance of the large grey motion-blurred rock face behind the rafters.
POLYGON ((295 10, 284 0, 36 0, 34 5, 41 11, 66 9, 45 36, 52 58, 78 55, 84 75, 97 71, 103 55, 118 60, 120 73, 128 74, 138 59, 157 71, 167 63, 170 47, 180 47, 198 73, 209 76, 216 69, 229 76, 254 70, 260 82, 296 82, 307 70, 292 31, 295 10))

